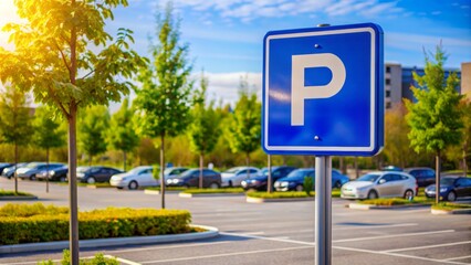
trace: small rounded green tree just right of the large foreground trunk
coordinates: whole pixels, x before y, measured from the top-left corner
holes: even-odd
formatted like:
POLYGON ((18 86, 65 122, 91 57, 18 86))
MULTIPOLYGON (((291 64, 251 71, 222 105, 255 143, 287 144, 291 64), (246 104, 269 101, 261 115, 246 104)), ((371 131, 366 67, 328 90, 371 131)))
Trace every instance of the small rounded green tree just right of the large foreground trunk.
POLYGON ((109 128, 109 113, 105 106, 91 106, 78 119, 78 141, 92 165, 94 156, 106 151, 106 131, 109 128))

